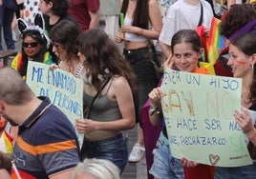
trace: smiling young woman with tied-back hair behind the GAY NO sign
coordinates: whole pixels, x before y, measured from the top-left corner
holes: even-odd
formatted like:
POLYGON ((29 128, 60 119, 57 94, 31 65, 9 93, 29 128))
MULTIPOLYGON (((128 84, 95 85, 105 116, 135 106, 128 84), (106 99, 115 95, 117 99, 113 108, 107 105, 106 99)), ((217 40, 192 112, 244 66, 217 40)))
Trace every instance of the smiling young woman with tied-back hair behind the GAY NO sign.
MULTIPOLYGON (((209 74, 204 68, 198 67, 198 60, 202 56, 202 44, 195 30, 180 30, 174 34, 171 42, 173 55, 169 56, 164 64, 165 68, 209 74)), ((153 89, 149 94, 149 118, 154 126, 163 121, 161 112, 160 88, 153 89)), ((182 168, 180 159, 172 157, 167 132, 165 127, 160 133, 160 138, 154 149, 154 163, 150 173, 156 178, 185 178, 185 179, 213 179, 214 168, 199 164, 194 168, 182 168)))

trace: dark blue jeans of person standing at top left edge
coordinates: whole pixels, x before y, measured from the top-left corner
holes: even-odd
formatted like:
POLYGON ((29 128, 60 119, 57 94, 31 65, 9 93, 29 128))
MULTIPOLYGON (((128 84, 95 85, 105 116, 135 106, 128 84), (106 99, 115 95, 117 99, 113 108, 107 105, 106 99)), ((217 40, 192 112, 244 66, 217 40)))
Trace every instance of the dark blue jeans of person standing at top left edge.
MULTIPOLYGON (((10 1, 10 0, 4 0, 10 1)), ((3 6, 0 7, 0 50, 3 50, 2 46, 2 30, 4 30, 4 38, 6 41, 7 49, 8 50, 15 50, 15 45, 12 39, 11 33, 11 22, 13 19, 15 10, 4 8, 3 6)))

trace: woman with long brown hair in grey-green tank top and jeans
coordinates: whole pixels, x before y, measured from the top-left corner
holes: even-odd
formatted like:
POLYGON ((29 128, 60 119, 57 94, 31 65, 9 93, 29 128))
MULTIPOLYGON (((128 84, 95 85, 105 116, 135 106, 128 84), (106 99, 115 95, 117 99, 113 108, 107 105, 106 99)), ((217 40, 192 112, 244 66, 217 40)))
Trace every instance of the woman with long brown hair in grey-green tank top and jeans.
POLYGON ((89 30, 78 39, 87 107, 84 119, 75 121, 77 131, 85 135, 82 157, 108 159, 122 173, 128 160, 122 130, 135 126, 136 76, 105 31, 89 30))

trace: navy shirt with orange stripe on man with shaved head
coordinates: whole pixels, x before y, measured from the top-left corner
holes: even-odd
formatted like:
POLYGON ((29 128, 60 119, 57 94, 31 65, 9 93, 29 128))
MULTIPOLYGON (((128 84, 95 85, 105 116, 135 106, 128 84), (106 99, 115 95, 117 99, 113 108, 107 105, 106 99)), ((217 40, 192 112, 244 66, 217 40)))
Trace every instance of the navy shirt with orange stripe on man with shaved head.
POLYGON ((13 150, 17 169, 35 178, 48 178, 79 162, 75 129, 67 116, 46 97, 19 127, 13 150))

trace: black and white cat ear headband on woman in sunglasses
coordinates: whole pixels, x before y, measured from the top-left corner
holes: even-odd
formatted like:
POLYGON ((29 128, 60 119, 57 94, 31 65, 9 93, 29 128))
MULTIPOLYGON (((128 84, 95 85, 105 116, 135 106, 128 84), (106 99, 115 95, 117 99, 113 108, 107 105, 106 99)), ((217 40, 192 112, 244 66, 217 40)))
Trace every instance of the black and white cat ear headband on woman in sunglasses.
POLYGON ((17 19, 18 30, 21 34, 23 34, 24 32, 26 32, 28 30, 37 30, 41 34, 42 39, 46 40, 46 42, 47 42, 46 45, 47 45, 47 49, 48 49, 50 47, 51 40, 45 32, 45 21, 44 21, 43 15, 41 13, 35 14, 33 24, 34 25, 29 26, 23 19, 21 19, 21 18, 17 19))

